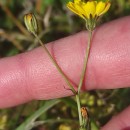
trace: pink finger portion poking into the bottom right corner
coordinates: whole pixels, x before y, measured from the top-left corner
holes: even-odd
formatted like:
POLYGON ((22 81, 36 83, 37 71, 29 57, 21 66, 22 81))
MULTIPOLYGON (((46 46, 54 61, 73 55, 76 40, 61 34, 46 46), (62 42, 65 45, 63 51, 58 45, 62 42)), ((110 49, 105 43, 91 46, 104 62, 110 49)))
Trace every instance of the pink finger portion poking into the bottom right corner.
POLYGON ((130 106, 114 116, 101 130, 130 130, 130 106))

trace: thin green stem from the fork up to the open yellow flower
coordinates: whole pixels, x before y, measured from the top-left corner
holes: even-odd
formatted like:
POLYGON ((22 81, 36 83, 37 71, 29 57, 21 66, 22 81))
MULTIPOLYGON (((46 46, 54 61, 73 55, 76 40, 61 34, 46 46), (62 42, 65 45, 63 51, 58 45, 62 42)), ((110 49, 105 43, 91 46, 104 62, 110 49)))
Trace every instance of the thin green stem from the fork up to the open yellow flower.
POLYGON ((87 45, 87 48, 86 48, 83 70, 82 70, 81 78, 80 78, 79 85, 78 85, 78 94, 80 93, 81 87, 83 85, 85 73, 86 73, 86 68, 87 68, 87 63, 88 63, 88 58, 89 58, 89 53, 90 53, 91 39, 92 39, 92 31, 89 31, 88 35, 89 35, 88 36, 88 45, 87 45))

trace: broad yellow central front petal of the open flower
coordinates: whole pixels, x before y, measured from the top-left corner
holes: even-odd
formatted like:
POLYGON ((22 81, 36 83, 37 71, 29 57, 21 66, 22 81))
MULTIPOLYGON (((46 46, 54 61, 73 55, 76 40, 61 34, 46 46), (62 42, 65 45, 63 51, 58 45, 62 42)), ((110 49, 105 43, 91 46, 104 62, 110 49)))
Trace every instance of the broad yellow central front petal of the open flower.
POLYGON ((95 16, 96 11, 96 2, 95 1, 88 1, 84 4, 83 9, 85 10, 85 16, 90 19, 90 15, 93 17, 95 16))

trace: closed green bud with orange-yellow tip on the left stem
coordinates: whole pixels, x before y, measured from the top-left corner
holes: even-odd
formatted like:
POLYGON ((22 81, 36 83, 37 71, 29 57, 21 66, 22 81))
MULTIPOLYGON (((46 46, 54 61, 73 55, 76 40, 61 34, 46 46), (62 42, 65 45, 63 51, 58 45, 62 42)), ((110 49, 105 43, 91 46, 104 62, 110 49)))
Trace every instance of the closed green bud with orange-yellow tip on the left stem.
POLYGON ((38 32, 37 19, 34 14, 26 14, 24 16, 24 22, 29 32, 33 34, 38 32))

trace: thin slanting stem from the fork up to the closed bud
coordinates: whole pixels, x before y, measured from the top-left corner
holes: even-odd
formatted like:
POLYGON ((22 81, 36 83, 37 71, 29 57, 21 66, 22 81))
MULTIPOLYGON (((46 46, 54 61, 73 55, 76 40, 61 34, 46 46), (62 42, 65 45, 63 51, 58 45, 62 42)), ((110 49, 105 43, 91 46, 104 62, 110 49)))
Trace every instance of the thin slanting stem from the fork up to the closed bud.
POLYGON ((40 40, 40 38, 37 36, 37 34, 34 33, 34 36, 39 41, 39 43, 41 44, 41 46, 43 47, 43 49, 45 50, 45 52, 48 54, 49 58, 51 59, 52 63, 55 65, 55 67, 57 68, 57 70, 59 71, 59 73, 62 75, 62 77, 66 81, 67 85, 70 87, 70 90, 73 92, 74 95, 76 95, 77 94, 76 90, 74 89, 73 85, 70 83, 69 79, 64 74, 64 72, 62 71, 62 69, 59 67, 59 65, 57 64, 56 60, 52 57, 52 55, 50 54, 50 52, 48 51, 48 49, 46 48, 46 46, 43 44, 43 42, 40 40))

